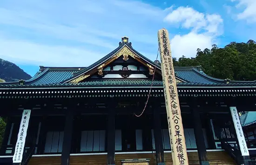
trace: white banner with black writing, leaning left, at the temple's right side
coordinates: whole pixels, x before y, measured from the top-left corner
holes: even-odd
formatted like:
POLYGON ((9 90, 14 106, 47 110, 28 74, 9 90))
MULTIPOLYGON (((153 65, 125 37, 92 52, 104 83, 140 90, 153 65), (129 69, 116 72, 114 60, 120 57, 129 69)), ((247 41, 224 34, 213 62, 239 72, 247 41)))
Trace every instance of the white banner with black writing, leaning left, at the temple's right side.
POLYGON ((241 126, 239 115, 237 113, 237 109, 236 109, 236 107, 229 107, 229 108, 230 108, 230 111, 231 111, 231 115, 232 115, 232 119, 233 119, 233 122, 234 122, 235 129, 236 129, 236 136, 237 136, 237 139, 238 139, 238 143, 239 143, 239 146, 240 146, 242 156, 249 156, 249 151, 248 151, 248 148, 247 148, 247 145, 246 145, 246 141, 244 139, 243 129, 242 129, 242 126, 241 126))

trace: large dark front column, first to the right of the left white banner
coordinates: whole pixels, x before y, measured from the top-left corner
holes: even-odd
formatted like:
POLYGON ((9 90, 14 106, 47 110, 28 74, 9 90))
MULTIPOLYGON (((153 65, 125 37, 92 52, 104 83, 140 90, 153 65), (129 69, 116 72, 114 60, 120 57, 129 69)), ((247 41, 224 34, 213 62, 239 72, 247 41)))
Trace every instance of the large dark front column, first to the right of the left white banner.
POLYGON ((75 109, 71 107, 67 108, 64 137, 63 137, 63 143, 62 143, 62 152, 61 152, 61 165, 69 165, 69 161, 70 161, 69 155, 71 152, 71 144, 72 144, 74 110, 75 109))

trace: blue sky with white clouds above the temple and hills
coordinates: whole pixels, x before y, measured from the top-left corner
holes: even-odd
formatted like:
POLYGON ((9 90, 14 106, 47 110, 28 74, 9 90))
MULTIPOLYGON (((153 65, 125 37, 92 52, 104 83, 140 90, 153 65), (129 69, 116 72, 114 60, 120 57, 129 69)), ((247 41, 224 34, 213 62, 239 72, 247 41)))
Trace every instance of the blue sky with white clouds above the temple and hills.
POLYGON ((88 66, 121 37, 155 60, 157 31, 173 57, 256 40, 256 0, 1 0, 0 58, 34 76, 43 66, 88 66))

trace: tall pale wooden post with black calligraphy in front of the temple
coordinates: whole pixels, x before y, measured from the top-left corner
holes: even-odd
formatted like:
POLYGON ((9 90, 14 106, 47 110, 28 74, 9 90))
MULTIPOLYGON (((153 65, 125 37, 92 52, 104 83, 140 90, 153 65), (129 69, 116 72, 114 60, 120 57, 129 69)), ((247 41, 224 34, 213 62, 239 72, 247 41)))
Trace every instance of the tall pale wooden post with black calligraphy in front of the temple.
POLYGON ((158 31, 161 69, 173 165, 189 165, 168 31, 158 31))

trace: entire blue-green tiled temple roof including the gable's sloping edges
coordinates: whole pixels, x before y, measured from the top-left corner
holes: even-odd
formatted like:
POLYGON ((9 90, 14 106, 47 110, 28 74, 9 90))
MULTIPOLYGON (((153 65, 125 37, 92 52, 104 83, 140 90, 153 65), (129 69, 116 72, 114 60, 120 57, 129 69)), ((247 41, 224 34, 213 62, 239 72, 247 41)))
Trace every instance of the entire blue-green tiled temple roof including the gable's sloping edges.
MULTIPOLYGON (((147 57, 135 51, 131 43, 119 43, 119 47, 110 52, 107 56, 93 63, 88 67, 43 67, 40 66, 38 73, 23 85, 19 82, 0 83, 0 88, 41 88, 41 87, 150 87, 150 79, 85 79, 80 83, 69 83, 70 80, 83 75, 88 70, 101 65, 103 62, 113 57, 115 53, 127 46, 136 56, 143 59, 147 63, 161 69, 161 66, 149 60, 147 57)), ((200 66, 198 67, 175 67, 175 77, 180 79, 182 83, 177 83, 178 87, 227 87, 227 86, 249 86, 256 87, 256 82, 246 81, 229 81, 216 79, 206 75, 200 66)), ((154 80, 154 87, 162 87, 162 80, 154 80)))

